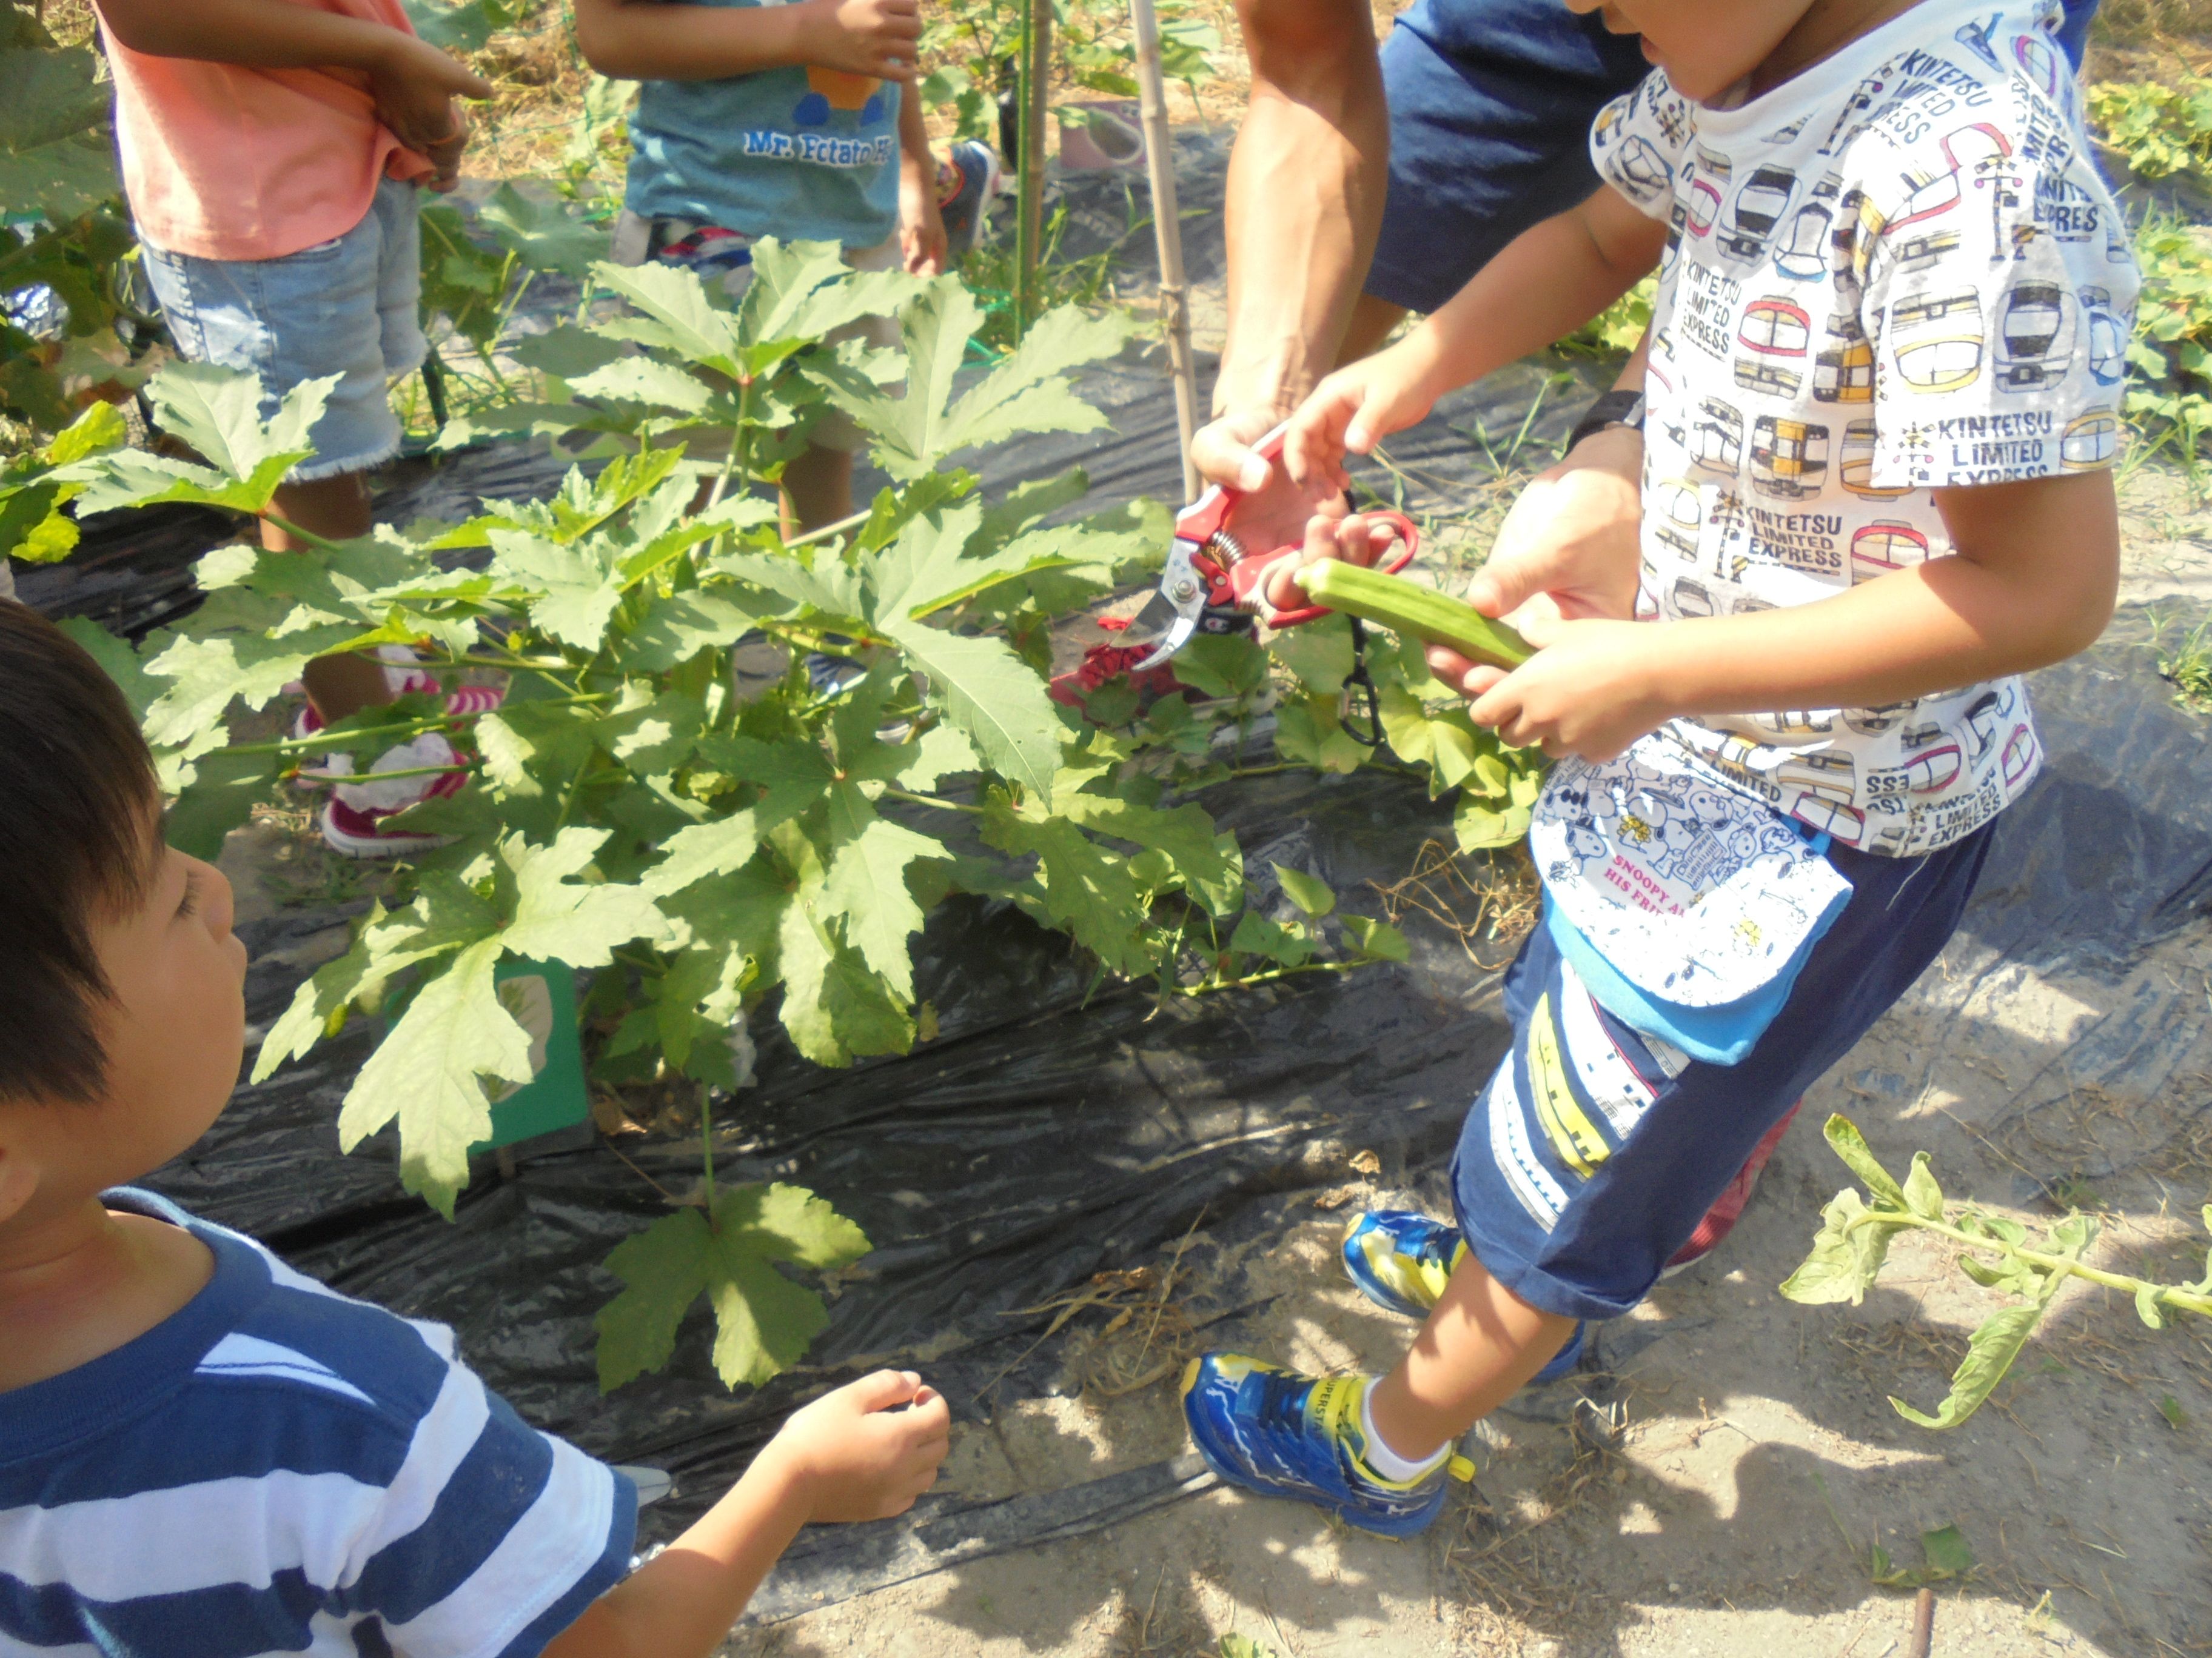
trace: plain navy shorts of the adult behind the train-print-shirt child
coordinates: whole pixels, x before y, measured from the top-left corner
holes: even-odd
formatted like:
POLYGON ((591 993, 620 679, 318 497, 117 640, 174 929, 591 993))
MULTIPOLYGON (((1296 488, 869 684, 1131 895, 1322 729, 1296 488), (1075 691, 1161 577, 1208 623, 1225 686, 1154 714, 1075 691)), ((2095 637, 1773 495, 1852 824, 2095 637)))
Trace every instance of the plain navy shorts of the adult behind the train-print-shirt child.
MULTIPOLYGON (((2066 0, 2075 66, 2097 0, 2066 0)), ((1559 0, 1418 0, 1383 42, 1389 192, 1367 292, 1433 312, 1597 190, 1590 122, 1650 73, 1637 35, 1559 0)))

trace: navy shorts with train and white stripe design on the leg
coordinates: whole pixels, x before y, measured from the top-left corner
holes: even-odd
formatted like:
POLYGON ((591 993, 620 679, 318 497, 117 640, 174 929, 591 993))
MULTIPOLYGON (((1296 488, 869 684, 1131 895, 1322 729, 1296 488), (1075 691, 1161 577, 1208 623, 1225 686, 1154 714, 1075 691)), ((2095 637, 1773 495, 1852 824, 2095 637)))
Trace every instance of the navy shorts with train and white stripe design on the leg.
POLYGON ((1851 898, 1734 1066, 1630 1030, 1537 926, 1506 970, 1513 1048, 1451 1158, 1475 1260, 1562 1318, 1619 1318, 1644 1300, 1752 1147, 1942 955, 1995 829, 1924 858, 1832 847, 1851 898))

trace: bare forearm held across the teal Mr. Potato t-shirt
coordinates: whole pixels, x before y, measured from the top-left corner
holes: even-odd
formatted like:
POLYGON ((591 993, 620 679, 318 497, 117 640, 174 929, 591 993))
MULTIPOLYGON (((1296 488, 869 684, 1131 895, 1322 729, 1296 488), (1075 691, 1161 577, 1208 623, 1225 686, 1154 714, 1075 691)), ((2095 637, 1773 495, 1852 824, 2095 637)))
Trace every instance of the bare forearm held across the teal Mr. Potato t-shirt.
POLYGON ((726 80, 818 64, 914 80, 920 0, 799 0, 787 7, 686 7, 575 0, 575 44, 617 80, 726 80))

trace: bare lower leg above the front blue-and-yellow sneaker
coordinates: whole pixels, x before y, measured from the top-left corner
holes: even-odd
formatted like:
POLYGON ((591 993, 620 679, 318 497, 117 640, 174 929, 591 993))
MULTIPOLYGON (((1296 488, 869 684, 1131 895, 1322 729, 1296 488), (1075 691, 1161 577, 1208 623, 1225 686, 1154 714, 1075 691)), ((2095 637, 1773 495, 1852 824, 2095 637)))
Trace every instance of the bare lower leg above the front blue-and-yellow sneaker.
POLYGON ((1427 1461, 1511 1399, 1575 1333, 1467 1256, 1413 1346, 1367 1395, 1367 1410, 1405 1461, 1427 1461))

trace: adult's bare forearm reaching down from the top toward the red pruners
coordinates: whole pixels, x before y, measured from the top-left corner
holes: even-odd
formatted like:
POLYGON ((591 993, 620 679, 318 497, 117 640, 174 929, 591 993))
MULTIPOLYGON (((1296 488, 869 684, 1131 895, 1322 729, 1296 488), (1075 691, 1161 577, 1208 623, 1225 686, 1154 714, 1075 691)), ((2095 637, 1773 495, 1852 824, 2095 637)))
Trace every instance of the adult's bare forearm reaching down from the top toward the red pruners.
POLYGON ((1389 183, 1389 111, 1365 0, 1239 0, 1252 97, 1228 175, 1228 345, 1199 471, 1259 489, 1250 444, 1327 374, 1389 183))

